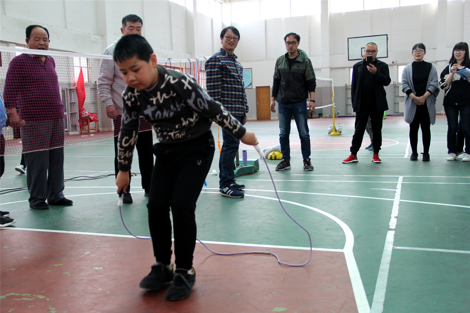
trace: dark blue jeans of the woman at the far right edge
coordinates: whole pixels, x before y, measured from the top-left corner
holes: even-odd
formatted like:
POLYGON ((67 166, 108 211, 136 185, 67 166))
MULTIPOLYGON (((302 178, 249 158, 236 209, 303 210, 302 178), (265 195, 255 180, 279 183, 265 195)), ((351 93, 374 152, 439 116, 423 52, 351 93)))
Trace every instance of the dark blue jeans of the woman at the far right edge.
POLYGON ((462 119, 462 130, 465 137, 465 153, 470 154, 470 105, 444 106, 447 115, 447 153, 457 154, 457 128, 459 112, 462 119))

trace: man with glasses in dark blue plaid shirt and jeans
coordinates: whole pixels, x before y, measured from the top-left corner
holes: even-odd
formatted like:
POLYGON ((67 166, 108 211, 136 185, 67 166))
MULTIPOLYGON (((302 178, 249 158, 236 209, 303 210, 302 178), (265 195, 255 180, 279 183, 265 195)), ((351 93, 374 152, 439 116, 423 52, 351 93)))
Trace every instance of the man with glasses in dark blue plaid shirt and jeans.
MULTIPOLYGON (((207 93, 242 124, 246 123, 248 105, 243 84, 243 67, 236 60, 235 48, 240 32, 228 26, 220 32, 222 47, 205 63, 207 93)), ((219 157, 219 190, 222 196, 243 198, 245 185, 235 183, 234 160, 240 141, 222 129, 222 149, 219 157)))

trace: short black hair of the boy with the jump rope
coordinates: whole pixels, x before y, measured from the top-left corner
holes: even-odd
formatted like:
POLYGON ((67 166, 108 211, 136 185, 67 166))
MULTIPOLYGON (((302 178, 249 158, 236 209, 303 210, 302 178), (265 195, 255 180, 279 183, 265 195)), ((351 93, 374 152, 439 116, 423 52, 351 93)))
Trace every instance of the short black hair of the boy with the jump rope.
POLYGON ((138 34, 123 36, 119 39, 114 48, 114 62, 123 62, 134 56, 139 60, 149 62, 150 55, 153 53, 149 42, 138 34))

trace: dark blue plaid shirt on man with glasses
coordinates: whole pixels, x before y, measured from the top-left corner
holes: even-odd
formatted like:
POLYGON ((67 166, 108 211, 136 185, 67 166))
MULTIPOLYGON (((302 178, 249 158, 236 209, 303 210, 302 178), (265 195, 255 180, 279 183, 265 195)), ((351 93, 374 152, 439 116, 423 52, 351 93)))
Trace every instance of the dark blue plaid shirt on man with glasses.
POLYGON ((220 48, 205 63, 207 93, 212 99, 223 104, 232 115, 244 116, 248 112, 243 66, 220 48))

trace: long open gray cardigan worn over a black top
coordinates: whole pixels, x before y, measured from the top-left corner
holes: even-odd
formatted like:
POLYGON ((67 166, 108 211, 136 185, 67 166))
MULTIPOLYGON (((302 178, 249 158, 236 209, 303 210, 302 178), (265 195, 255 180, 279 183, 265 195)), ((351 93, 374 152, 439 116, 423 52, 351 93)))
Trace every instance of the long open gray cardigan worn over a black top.
MULTIPOLYGON (((408 89, 411 89, 411 92, 415 94, 415 87, 413 86, 413 70, 411 64, 412 63, 409 63, 405 69, 403 69, 403 74, 401 75, 401 91, 406 93, 408 89)), ((438 71, 436 70, 434 64, 431 63, 431 65, 432 66, 431 71, 429 72, 428 83, 426 84, 426 90, 431 91, 431 95, 426 98, 426 105, 428 106, 431 125, 434 125, 434 123, 436 123, 436 97, 439 94, 439 81, 438 71)), ((415 118, 415 113, 416 103, 408 95, 405 95, 405 122, 411 124, 415 118)))

